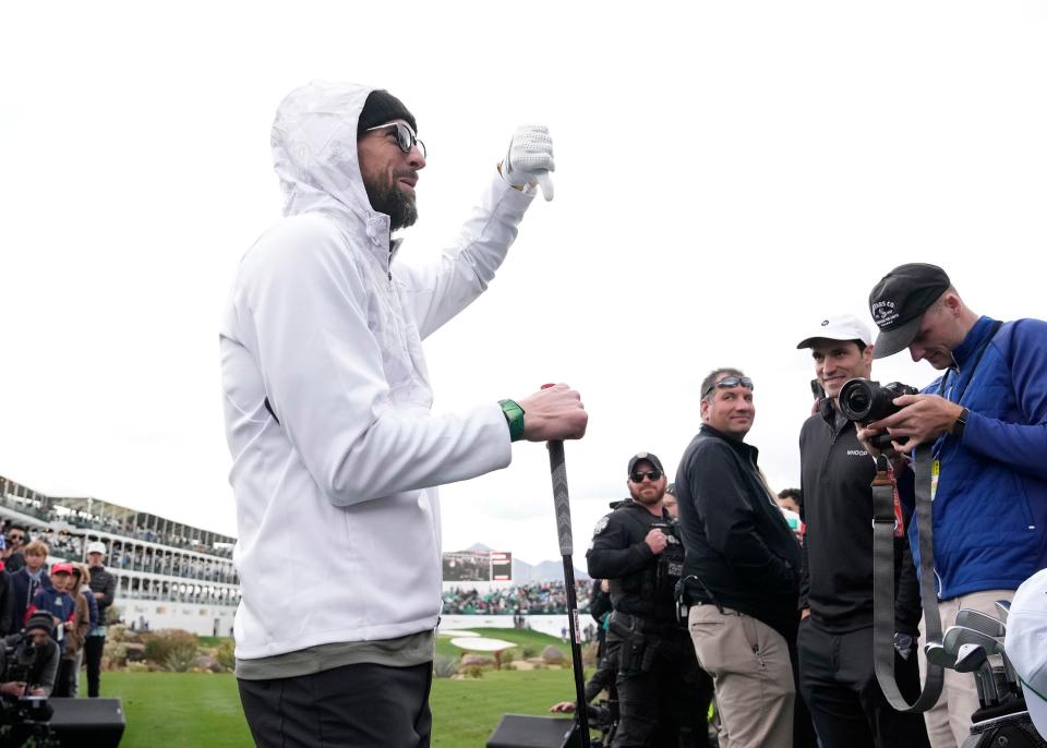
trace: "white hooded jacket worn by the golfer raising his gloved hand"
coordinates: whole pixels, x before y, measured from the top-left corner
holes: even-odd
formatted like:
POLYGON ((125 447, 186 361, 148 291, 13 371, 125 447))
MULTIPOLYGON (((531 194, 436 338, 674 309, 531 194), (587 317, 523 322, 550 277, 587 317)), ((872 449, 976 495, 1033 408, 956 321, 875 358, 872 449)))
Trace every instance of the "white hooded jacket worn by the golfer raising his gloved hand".
POLYGON ((488 287, 532 197, 495 173, 452 248, 390 265, 357 157, 370 91, 312 83, 280 104, 286 217, 241 261, 221 326, 241 660, 433 629, 435 486, 512 458, 497 402, 430 412, 421 340, 488 287))

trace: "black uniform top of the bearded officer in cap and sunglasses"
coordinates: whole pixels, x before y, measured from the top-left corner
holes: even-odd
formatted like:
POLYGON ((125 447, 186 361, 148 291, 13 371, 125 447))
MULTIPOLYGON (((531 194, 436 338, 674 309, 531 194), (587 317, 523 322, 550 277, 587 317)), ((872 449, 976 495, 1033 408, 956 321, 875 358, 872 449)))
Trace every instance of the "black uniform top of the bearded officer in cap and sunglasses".
POLYGON ((659 517, 640 504, 624 502, 597 522, 586 554, 589 576, 609 580, 615 611, 674 622, 673 590, 684 555, 678 536, 673 518, 664 509, 659 517), (670 539, 671 546, 657 555, 643 541, 655 528, 670 539))

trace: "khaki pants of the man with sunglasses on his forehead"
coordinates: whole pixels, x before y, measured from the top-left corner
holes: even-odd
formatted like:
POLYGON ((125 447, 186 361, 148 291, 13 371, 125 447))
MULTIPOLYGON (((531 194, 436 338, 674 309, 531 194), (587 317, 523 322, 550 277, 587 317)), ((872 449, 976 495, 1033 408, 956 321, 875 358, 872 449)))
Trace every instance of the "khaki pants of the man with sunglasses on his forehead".
POLYGON ((712 676, 720 748, 793 745, 793 668, 781 634, 751 616, 694 605, 687 616, 701 668, 712 676))

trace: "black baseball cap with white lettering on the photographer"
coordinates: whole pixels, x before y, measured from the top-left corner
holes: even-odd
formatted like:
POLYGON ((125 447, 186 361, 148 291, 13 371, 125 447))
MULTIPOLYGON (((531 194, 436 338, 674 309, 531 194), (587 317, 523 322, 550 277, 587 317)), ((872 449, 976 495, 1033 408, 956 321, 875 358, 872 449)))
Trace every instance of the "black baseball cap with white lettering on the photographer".
POLYGON ((869 312, 880 328, 874 359, 894 355, 919 331, 924 313, 952 283, 937 265, 910 263, 888 273, 869 293, 869 312))

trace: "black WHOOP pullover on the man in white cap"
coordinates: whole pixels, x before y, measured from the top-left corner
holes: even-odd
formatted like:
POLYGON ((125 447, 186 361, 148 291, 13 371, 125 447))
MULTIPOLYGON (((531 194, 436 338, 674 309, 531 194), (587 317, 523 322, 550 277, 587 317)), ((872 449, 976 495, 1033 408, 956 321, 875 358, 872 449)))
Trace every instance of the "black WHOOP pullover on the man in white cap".
MULTIPOLYGON (((801 430, 799 460, 807 524, 801 605, 810 607, 816 626, 833 634, 871 626, 876 465, 854 423, 829 400, 801 430)), ((894 539, 894 600, 895 629, 915 636, 919 586, 904 536, 894 539)))

